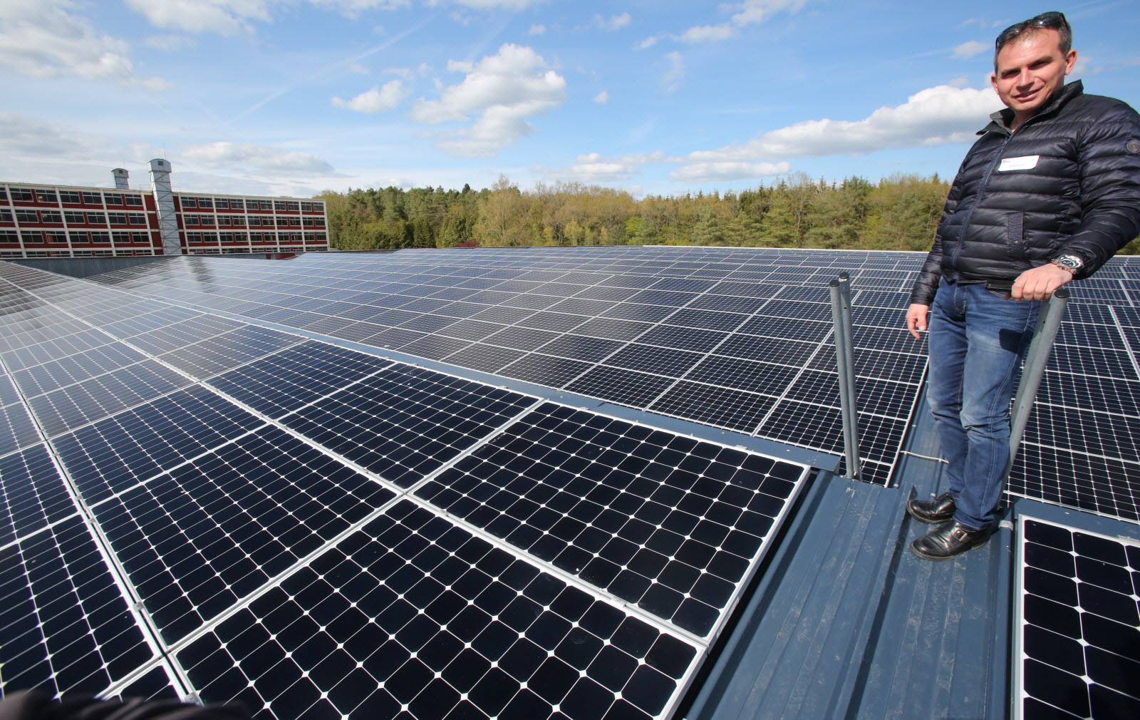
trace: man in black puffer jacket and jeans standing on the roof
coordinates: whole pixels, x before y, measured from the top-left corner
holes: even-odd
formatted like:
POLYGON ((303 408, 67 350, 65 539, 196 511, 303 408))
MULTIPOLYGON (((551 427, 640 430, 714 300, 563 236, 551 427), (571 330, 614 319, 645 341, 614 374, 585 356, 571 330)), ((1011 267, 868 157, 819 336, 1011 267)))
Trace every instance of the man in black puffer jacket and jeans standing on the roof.
POLYGON ((1065 84, 1072 46, 1060 13, 997 35, 991 82, 1007 108, 962 161, 911 292, 907 329, 919 338, 930 321, 928 399, 948 461, 950 491, 906 505, 938 524, 911 543, 929 560, 993 531, 1013 375, 1041 301, 1140 233, 1140 116, 1065 84))

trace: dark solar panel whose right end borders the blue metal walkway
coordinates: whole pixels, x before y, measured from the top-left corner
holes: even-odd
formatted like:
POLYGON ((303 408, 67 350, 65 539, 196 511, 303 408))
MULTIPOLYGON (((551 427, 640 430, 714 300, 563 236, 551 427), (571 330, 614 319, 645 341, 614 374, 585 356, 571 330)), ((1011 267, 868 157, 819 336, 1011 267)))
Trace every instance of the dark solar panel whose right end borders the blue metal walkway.
POLYGON ((703 637, 801 475, 546 403, 416 495, 703 637))

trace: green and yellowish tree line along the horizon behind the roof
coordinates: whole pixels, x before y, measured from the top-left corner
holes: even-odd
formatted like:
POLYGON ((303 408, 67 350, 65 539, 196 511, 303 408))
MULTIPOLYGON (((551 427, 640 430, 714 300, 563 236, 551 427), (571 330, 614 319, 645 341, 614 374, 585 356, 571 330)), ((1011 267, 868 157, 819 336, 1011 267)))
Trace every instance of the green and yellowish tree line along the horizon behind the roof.
MULTIPOLYGON (((325 191, 339 250, 512 245, 722 245, 919 250, 930 248, 950 184, 937 175, 871 183, 804 173, 735 192, 646 195, 580 183, 490 188, 325 191)), ((1140 253, 1140 238, 1124 252, 1140 253)))

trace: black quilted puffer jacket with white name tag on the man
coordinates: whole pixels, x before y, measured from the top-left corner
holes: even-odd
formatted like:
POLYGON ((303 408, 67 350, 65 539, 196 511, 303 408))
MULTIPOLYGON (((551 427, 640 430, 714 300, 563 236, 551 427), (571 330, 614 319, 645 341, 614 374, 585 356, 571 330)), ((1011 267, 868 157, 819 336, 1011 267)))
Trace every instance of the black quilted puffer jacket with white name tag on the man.
POLYGON ((929 305, 939 276, 1013 280, 1060 254, 1088 277, 1140 233, 1140 115, 1072 82, 1010 132, 1012 111, 967 153, 911 302, 929 305))

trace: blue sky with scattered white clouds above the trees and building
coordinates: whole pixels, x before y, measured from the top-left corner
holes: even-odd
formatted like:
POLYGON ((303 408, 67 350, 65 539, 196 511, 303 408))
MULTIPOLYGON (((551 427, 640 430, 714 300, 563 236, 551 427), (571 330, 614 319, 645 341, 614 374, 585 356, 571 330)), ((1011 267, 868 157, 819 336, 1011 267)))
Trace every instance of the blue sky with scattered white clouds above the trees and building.
POLYGON ((0 0, 8 181, 307 196, 635 195, 952 176, 994 35, 1059 9, 1070 80, 1140 104, 1140 3, 0 0))

